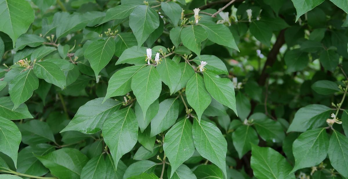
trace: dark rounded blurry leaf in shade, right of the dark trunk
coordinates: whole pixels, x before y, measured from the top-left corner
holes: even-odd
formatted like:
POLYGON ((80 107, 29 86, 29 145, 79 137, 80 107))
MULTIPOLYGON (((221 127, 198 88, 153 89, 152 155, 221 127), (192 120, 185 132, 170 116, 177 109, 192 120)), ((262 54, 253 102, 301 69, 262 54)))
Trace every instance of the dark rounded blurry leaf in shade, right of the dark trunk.
POLYGON ((309 62, 308 53, 296 48, 288 51, 284 56, 284 61, 287 66, 286 71, 295 72, 301 71, 307 67, 309 62))

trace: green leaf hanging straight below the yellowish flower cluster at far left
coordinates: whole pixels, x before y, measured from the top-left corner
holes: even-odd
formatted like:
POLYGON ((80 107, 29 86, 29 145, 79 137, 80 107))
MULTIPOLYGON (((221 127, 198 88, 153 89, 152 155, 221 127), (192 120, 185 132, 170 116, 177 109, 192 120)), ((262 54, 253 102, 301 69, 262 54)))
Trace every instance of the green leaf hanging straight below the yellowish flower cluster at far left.
POLYGON ((39 79, 32 69, 19 73, 8 85, 8 93, 14 104, 13 109, 28 100, 33 95, 33 91, 38 88, 39 79))

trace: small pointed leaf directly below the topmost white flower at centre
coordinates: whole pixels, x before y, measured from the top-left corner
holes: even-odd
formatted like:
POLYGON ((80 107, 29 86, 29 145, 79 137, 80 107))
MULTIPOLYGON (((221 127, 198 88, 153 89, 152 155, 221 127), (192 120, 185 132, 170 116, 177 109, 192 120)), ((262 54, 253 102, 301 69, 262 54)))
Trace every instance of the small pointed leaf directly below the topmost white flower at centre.
MULTIPOLYGON (((181 30, 182 44, 200 57, 200 44, 207 39, 208 33, 201 26, 191 25, 181 30)), ((188 55, 188 54, 186 54, 188 55)))

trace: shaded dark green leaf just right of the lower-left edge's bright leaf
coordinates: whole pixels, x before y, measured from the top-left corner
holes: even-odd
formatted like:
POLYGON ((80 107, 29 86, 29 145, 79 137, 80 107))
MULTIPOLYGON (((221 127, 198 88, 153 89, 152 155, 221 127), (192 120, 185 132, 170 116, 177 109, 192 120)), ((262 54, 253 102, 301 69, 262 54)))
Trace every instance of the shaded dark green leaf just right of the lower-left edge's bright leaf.
POLYGON ((48 124, 40 120, 31 120, 18 125, 22 134, 22 142, 28 145, 56 142, 48 124), (40 129, 40 130, 38 130, 40 129))

